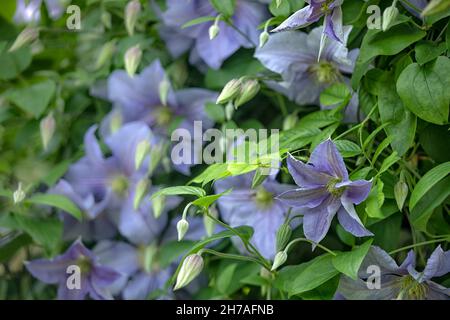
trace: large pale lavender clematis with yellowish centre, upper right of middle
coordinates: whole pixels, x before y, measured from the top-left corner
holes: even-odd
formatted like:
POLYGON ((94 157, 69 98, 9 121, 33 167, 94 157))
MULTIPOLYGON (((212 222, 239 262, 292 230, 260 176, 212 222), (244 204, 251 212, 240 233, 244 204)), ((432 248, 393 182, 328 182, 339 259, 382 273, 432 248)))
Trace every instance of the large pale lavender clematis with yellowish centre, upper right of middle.
MULTIPOLYGON (((319 27, 309 34, 296 31, 274 34, 255 53, 266 68, 282 76, 281 82, 269 81, 267 84, 299 105, 319 105, 320 94, 327 87, 338 82, 349 84, 346 75, 353 72, 359 54, 359 49, 349 51, 345 47, 351 31, 351 27, 346 26, 344 44, 326 41, 317 61, 322 30, 319 27)), ((354 94, 345 111, 347 121, 356 120, 357 107, 358 97, 354 94)))

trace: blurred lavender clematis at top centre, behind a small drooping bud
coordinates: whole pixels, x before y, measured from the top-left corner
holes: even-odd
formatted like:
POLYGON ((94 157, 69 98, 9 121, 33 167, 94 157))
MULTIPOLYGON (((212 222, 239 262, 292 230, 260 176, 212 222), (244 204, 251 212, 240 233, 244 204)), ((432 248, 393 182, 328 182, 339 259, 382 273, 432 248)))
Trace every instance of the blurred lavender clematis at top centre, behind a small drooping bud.
POLYGON ((181 28, 193 19, 217 15, 209 1, 168 0, 167 11, 162 13, 164 25, 160 34, 171 55, 177 58, 192 49, 189 58, 191 64, 206 64, 210 68, 219 69, 240 47, 255 47, 260 33, 258 26, 266 19, 267 9, 265 5, 255 1, 237 0, 232 20, 242 33, 220 21, 220 31, 213 40, 209 38, 208 29, 214 21, 181 28))

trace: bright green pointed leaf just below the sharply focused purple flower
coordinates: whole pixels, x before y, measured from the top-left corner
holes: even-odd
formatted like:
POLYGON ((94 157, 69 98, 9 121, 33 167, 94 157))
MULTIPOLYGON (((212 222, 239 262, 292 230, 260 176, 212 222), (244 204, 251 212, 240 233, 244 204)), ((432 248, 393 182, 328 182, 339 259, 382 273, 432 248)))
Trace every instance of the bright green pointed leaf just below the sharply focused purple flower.
POLYGON ((370 245, 373 239, 367 240, 364 244, 354 248, 350 252, 341 252, 336 257, 333 257, 333 266, 350 278, 356 280, 358 277, 358 270, 364 260, 367 252, 369 252, 370 245))

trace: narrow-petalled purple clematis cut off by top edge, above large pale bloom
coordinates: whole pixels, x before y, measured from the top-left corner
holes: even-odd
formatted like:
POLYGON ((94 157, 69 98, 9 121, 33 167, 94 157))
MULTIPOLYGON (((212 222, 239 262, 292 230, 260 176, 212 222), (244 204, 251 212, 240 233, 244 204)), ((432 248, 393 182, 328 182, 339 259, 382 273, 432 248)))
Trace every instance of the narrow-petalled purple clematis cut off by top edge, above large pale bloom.
POLYGON ((323 31, 330 39, 345 43, 341 5, 344 0, 305 0, 309 5, 295 12, 272 32, 289 31, 306 27, 325 17, 323 31))

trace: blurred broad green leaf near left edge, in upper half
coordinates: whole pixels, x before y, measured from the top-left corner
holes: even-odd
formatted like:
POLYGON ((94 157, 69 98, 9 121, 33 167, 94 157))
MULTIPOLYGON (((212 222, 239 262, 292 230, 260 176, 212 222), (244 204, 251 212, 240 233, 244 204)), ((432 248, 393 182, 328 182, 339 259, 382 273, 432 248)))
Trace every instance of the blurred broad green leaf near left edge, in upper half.
POLYGON ((39 118, 47 108, 56 90, 52 80, 45 80, 21 89, 11 89, 6 98, 19 108, 39 118))

